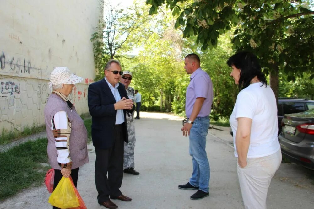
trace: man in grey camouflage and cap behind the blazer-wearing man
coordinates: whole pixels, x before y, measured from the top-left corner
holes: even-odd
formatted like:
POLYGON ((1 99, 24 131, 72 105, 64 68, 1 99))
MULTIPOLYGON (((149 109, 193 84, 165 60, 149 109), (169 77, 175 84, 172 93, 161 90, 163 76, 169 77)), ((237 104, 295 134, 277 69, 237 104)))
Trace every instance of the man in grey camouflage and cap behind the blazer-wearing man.
MULTIPOLYGON (((132 79, 132 72, 125 70, 120 78, 120 82, 125 86, 127 96, 129 99, 135 101, 134 88, 129 87, 132 79)), ((129 143, 124 142, 124 163, 123 172, 127 174, 138 175, 139 172, 134 170, 134 147, 135 147, 135 126, 134 126, 134 112, 127 114, 127 134, 129 143)))

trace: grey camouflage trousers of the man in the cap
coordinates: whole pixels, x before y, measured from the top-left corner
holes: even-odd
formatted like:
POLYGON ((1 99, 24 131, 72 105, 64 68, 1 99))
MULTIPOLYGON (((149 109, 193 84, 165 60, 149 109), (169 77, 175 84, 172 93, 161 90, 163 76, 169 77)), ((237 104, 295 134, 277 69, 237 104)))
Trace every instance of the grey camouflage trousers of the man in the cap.
POLYGON ((133 119, 127 121, 127 134, 129 143, 124 142, 123 169, 134 168, 135 126, 133 119))

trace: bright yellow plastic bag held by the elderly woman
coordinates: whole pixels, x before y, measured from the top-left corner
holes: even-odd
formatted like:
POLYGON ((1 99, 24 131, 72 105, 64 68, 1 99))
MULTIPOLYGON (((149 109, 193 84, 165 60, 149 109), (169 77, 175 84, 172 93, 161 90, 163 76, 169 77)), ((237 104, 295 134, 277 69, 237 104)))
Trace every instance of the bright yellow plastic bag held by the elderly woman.
POLYGON ((79 206, 78 197, 70 178, 62 176, 55 190, 53 190, 48 202, 58 208, 75 208, 79 206))

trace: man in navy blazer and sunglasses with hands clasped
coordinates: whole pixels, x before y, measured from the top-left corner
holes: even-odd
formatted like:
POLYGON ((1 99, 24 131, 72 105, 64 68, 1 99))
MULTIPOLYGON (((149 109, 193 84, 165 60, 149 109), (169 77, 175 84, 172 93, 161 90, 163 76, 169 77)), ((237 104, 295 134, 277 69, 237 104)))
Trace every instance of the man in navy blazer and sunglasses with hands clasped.
POLYGON ((106 208, 117 208, 110 198, 132 200, 119 188, 123 178, 124 142, 128 143, 126 113, 132 113, 135 108, 124 85, 119 83, 120 62, 107 62, 104 73, 104 79, 89 85, 87 96, 96 153, 95 183, 98 203, 106 208))

